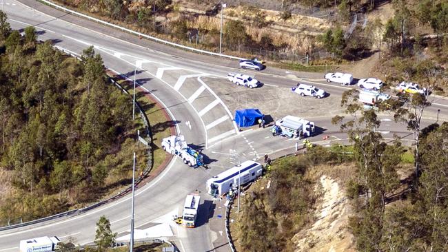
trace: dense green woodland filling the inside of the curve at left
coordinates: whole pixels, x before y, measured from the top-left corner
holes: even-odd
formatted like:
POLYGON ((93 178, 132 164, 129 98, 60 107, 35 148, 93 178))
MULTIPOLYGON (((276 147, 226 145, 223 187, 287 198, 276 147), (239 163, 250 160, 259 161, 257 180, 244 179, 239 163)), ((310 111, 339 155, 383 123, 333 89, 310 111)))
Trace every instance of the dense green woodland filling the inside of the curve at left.
POLYGON ((10 174, 0 219, 50 216, 127 185, 138 150, 132 106, 101 57, 92 48, 82 62, 63 56, 50 41, 37 43, 34 28, 23 39, 0 30, 0 160, 10 174))

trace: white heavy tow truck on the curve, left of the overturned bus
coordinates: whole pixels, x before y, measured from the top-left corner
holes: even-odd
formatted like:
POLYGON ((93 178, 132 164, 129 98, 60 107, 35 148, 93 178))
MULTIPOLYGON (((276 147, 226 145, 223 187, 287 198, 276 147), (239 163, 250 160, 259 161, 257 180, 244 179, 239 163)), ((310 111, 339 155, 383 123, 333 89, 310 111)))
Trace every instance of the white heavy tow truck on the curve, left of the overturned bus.
POLYGON ((204 166, 203 154, 195 149, 192 149, 191 147, 188 147, 187 142, 185 142, 185 138, 182 135, 163 138, 162 149, 172 155, 182 158, 185 165, 189 165, 194 168, 204 166))

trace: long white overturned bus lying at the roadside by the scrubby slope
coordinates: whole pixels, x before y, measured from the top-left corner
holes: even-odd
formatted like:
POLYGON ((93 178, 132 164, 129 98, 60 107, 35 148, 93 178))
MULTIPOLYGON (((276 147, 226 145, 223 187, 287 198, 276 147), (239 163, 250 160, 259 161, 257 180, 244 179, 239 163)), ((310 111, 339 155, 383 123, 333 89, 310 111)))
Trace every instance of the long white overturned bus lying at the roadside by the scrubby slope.
POLYGON ((241 165, 236 165, 207 180, 207 192, 212 196, 224 195, 229 193, 230 189, 238 188, 238 182, 240 185, 245 185, 262 174, 263 166, 260 163, 247 160, 242 162, 241 165))

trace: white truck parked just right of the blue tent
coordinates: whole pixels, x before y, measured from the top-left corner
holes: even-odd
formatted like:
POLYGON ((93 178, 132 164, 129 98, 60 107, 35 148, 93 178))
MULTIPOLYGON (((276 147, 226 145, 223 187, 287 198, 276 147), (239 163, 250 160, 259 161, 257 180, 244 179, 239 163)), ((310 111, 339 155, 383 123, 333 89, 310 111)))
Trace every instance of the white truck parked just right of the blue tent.
POLYGON ((312 134, 314 134, 314 123, 296 116, 285 116, 280 120, 276 120, 272 133, 291 138, 298 136, 312 136, 312 134))

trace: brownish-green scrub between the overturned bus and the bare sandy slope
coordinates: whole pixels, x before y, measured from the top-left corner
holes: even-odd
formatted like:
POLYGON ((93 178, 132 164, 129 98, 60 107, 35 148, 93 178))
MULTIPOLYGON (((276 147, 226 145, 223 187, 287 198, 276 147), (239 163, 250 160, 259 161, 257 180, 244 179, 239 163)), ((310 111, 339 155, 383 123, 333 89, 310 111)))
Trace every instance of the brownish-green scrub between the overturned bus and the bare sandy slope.
POLYGON ((314 219, 318 193, 308 170, 316 165, 347 162, 345 147, 315 147, 306 156, 283 158, 272 165, 265 180, 243 198, 238 216, 238 245, 243 251, 294 251, 292 237, 314 219), (263 185, 263 187, 265 187, 263 185))

